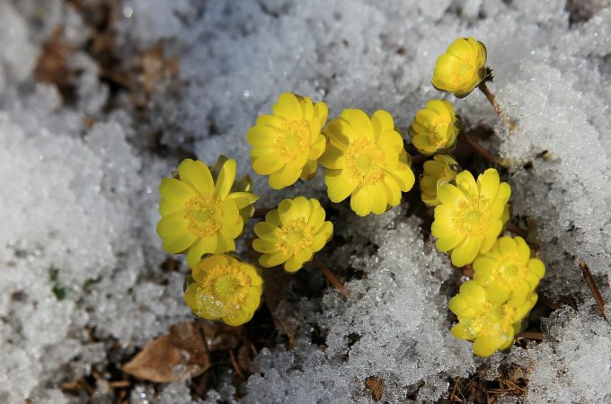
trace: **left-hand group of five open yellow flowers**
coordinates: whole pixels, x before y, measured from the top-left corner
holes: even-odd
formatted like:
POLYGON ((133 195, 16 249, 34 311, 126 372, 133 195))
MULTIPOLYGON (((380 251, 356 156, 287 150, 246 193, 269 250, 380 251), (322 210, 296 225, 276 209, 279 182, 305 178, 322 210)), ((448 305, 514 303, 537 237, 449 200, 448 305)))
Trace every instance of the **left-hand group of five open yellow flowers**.
MULTIPOLYGON (((332 202, 350 197, 358 215, 380 215, 401 202, 415 177, 403 137, 388 112, 369 117, 343 110, 327 123, 327 106, 308 97, 280 94, 272 115, 262 115, 246 134, 252 169, 269 175, 272 189, 310 180, 318 162, 332 202)), ((260 271, 235 255, 235 240, 252 218, 252 180, 235 180, 236 163, 225 156, 208 168, 184 160, 173 178, 162 180, 157 233, 164 250, 186 253, 191 268, 185 301, 205 319, 230 325, 250 321, 262 293, 260 271)), ((252 249, 261 267, 283 265, 294 273, 322 250, 333 233, 314 198, 285 199, 256 224, 252 249)))

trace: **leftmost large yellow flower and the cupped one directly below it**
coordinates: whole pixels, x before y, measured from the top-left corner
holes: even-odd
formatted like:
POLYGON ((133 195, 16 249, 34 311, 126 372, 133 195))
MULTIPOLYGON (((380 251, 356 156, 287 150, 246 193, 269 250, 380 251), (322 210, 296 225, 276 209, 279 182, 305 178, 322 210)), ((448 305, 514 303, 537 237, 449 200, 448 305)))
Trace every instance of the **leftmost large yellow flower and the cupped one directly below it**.
POLYGON ((190 309, 230 325, 250 321, 262 293, 259 270, 226 254, 235 251, 235 239, 244 234, 259 198, 249 177, 235 181, 235 170, 235 160, 225 156, 212 168, 190 159, 181 162, 174 178, 159 186, 162 217, 157 224, 164 250, 187 254, 192 273, 184 298, 190 309))

